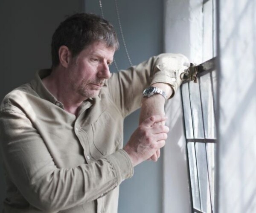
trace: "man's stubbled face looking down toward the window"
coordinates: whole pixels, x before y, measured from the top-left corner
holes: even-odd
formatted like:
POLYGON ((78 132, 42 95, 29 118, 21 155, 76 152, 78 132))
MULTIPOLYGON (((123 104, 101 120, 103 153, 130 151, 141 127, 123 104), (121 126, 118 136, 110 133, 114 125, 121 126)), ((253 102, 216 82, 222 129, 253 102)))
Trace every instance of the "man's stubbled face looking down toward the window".
POLYGON ((110 78, 109 65, 113 61, 115 50, 103 42, 94 42, 72 58, 68 72, 71 88, 85 99, 94 98, 110 78))

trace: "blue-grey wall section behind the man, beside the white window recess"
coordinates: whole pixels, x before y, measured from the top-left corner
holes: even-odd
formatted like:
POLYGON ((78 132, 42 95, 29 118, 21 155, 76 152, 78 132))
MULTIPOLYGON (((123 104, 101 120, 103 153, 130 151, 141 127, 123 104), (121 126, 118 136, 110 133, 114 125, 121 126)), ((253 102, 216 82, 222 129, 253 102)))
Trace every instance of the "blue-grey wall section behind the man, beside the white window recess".
MULTIPOLYGON (((86 0, 86 12, 101 14, 99 1, 86 0)), ((127 49, 133 64, 163 52, 163 2, 161 0, 119 0, 119 14, 127 49)), ((115 1, 102 0, 104 16, 119 36, 120 49, 115 54, 119 69, 129 66, 120 36, 115 1)), ((111 67, 112 72, 116 72, 111 67)), ((125 120, 124 142, 138 126, 139 111, 125 120)), ((120 185, 120 213, 162 212, 162 158, 157 163, 147 161, 134 168, 134 176, 120 185)))

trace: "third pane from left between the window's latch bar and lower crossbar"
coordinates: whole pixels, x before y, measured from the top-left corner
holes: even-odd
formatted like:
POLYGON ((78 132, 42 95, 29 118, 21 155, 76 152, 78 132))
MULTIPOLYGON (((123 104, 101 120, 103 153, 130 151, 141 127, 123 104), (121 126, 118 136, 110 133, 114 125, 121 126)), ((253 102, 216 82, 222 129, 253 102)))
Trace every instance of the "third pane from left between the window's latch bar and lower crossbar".
POLYGON ((204 132, 206 138, 216 138, 215 117, 212 99, 210 73, 200 78, 201 100, 203 107, 204 132))

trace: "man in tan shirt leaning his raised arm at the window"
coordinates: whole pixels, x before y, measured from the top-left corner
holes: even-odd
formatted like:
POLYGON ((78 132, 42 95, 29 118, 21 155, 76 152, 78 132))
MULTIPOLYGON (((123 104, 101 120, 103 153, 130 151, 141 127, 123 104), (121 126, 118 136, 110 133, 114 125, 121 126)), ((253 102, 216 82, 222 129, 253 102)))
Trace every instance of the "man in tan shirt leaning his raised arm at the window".
POLYGON ((52 37, 52 69, 6 95, 4 212, 115 213, 119 184, 137 164, 157 161, 169 131, 164 104, 187 59, 163 54, 111 75, 118 47, 110 23, 75 14, 52 37), (158 89, 143 98, 150 85, 158 89), (140 106, 140 125, 122 149, 123 120, 140 106))

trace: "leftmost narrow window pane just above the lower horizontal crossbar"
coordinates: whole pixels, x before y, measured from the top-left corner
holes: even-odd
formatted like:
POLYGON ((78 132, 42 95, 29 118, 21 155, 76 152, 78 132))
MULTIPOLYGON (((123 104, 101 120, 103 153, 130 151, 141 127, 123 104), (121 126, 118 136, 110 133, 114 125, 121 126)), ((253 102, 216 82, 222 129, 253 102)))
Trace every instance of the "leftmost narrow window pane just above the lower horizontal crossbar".
POLYGON ((192 128, 192 118, 191 118, 191 110, 190 110, 188 83, 185 83, 182 85, 181 91, 182 91, 186 138, 193 138, 193 128, 192 128))

